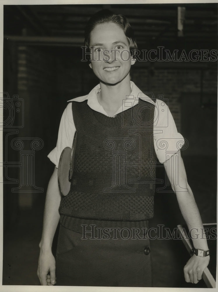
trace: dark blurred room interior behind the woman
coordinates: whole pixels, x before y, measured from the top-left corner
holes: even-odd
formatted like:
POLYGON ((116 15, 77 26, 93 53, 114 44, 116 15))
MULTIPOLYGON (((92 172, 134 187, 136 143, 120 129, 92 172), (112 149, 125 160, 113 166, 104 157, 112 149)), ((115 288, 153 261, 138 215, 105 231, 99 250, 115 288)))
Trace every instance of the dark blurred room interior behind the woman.
MULTIPOLYGON (((85 23, 102 8, 124 14, 139 50, 157 50, 158 59, 158 47, 177 50, 180 57, 182 50, 201 54, 196 61, 184 55, 180 61, 138 60, 131 79, 144 93, 168 100, 177 130, 189 143, 182 157, 202 221, 216 223, 217 4, 4 5, 3 285, 40 284, 38 244, 54 169, 47 155, 56 145, 67 100, 98 84, 81 61, 81 46, 85 23)), ((157 174, 165 176, 163 167, 157 174)), ((184 224, 169 187, 155 194, 154 208, 151 227, 184 224)), ((189 255, 181 240, 152 240, 151 246, 154 286, 205 287, 203 281, 197 286, 184 281, 189 255)))

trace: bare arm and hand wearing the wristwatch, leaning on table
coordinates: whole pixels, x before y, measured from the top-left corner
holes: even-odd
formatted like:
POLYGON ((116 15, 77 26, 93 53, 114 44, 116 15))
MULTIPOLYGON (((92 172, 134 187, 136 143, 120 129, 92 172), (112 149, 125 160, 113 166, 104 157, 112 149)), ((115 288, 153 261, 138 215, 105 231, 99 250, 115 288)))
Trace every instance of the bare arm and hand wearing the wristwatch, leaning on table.
MULTIPOLYGON (((207 240, 202 236, 203 224, 193 193, 187 182, 186 171, 180 152, 164 163, 167 176, 176 194, 181 213, 191 231, 195 248, 208 250, 207 240), (178 160, 175 159, 178 154, 178 160)), ((203 270, 208 266, 210 256, 193 255, 184 267, 184 277, 187 282, 198 283, 203 270)))

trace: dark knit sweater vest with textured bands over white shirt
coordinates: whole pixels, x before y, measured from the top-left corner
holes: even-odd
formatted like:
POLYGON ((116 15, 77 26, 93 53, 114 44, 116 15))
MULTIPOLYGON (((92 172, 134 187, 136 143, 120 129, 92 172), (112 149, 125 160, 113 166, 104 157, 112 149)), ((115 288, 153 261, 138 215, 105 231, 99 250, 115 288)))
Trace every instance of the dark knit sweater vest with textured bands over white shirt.
POLYGON ((154 105, 139 99, 137 105, 107 117, 85 100, 72 102, 72 111, 78 139, 71 188, 61 197, 61 224, 70 229, 70 224, 93 222, 107 227, 108 222, 116 226, 152 218, 154 105))

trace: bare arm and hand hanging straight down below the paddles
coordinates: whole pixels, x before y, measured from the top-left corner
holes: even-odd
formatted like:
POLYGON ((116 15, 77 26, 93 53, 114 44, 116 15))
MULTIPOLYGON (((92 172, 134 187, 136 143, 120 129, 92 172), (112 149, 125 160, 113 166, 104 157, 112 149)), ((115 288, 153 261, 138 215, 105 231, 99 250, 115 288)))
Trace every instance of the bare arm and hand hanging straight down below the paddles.
POLYGON ((58 212, 60 200, 61 195, 57 181, 57 168, 55 167, 46 193, 43 232, 39 244, 40 255, 37 275, 41 285, 55 284, 55 259, 52 254, 52 241, 60 218, 58 212), (48 272, 50 272, 50 276, 48 272))

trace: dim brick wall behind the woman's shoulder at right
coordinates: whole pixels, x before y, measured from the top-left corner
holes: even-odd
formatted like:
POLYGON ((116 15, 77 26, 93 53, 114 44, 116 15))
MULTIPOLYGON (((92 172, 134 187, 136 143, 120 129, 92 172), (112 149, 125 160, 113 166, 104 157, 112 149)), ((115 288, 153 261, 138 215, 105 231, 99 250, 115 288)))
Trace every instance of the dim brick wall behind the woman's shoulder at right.
MULTIPOLYGON (((200 105, 201 86, 203 95, 217 95, 217 71, 203 70, 203 85, 201 85, 201 69, 133 69, 132 80, 143 91, 151 91, 154 96, 164 95, 168 99, 169 108, 175 120, 177 130, 181 131, 181 96, 184 93, 199 93, 196 105, 200 105)), ((209 117, 208 117, 209 118, 209 117)))

